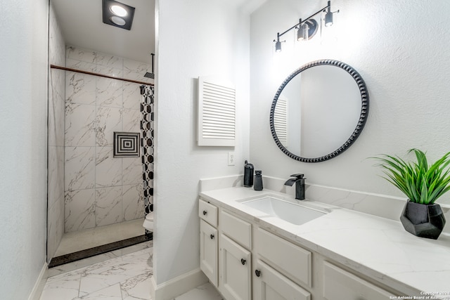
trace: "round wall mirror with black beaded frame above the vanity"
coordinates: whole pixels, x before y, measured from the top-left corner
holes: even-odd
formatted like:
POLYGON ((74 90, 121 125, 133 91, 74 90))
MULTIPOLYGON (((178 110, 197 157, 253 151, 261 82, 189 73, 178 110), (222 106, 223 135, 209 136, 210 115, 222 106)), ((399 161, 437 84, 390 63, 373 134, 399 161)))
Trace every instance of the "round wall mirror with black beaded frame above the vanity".
POLYGON ((276 91, 270 128, 276 145, 300 162, 323 162, 349 148, 368 114, 366 84, 338 60, 295 70, 276 91))

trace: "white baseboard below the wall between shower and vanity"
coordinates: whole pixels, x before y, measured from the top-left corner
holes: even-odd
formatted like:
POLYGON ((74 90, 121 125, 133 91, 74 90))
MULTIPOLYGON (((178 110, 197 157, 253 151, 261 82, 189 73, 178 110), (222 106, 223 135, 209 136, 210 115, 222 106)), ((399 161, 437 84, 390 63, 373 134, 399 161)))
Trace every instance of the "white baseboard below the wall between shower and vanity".
POLYGON ((207 281, 207 277, 200 268, 191 270, 191 272, 160 285, 156 285, 155 278, 151 278, 150 294, 153 300, 174 299, 176 296, 184 294, 199 285, 203 285, 207 281))

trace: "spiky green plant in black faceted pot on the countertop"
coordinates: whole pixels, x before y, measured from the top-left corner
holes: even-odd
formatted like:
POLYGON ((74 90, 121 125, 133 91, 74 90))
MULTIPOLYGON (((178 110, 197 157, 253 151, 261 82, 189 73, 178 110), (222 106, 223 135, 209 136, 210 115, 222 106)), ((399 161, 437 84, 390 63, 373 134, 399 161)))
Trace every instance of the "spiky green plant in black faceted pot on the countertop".
POLYGON ((406 231, 418 237, 437 239, 445 225, 444 214, 437 198, 450 190, 450 152, 428 165, 425 152, 411 149, 417 162, 405 162, 400 157, 373 157, 380 162, 387 181, 408 197, 400 221, 406 231))

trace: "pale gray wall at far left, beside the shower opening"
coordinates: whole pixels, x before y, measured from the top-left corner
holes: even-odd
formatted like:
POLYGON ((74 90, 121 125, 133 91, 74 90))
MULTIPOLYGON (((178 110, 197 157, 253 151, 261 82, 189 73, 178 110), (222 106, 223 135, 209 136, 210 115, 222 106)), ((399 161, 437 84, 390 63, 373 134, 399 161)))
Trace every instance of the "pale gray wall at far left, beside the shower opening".
POLYGON ((46 260, 49 1, 0 6, 0 294, 27 299, 46 260))

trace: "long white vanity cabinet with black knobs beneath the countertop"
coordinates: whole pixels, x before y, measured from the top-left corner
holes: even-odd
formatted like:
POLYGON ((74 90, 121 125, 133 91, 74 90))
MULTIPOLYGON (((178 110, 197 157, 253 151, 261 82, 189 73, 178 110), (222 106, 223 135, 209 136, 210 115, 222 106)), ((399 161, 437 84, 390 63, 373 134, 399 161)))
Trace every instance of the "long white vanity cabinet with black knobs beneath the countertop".
MULTIPOLYGON (((243 201, 242 190, 236 193, 239 202, 243 201)), ((212 195, 200 198, 199 204, 200 268, 226 300, 385 300, 419 296, 415 287, 392 283, 390 278, 373 276, 370 269, 357 268, 352 252, 347 256, 318 247, 307 237, 296 235, 293 226, 278 225, 273 216, 259 217, 243 205, 212 195)))

